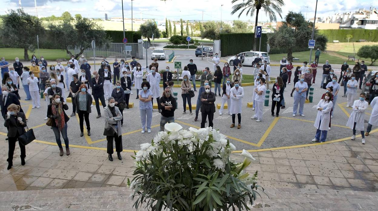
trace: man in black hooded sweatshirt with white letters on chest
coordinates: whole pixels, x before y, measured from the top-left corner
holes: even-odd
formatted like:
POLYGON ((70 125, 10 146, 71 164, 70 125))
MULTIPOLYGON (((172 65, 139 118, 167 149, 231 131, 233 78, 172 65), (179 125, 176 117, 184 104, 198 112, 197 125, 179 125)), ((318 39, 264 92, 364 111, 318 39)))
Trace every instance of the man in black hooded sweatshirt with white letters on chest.
POLYGON ((177 104, 175 98, 170 95, 169 86, 164 89, 163 97, 160 98, 160 131, 164 131, 164 125, 166 123, 175 122, 175 110, 177 104))

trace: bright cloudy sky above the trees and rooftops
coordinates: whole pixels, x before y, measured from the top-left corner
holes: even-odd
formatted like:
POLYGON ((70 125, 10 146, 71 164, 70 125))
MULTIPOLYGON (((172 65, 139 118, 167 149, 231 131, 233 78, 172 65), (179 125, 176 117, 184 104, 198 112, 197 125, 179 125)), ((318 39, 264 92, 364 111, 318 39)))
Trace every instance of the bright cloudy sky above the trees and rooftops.
MULTIPOLYGON (((19 0, 3 0, 2 11, 5 14, 8 9, 19 8, 19 0)), ((239 0, 242 2, 242 0, 239 0)), ((38 17, 50 15, 60 16, 62 12, 68 11, 72 15, 81 14, 83 17, 103 18, 105 13, 108 17, 118 17, 122 15, 121 0, 36 0, 38 17)), ((36 14, 34 0, 21 0, 21 4, 29 14, 36 14)), ((204 20, 220 20, 222 6, 222 19, 235 20, 238 15, 231 15, 231 0, 134 0, 133 16, 135 18, 155 18, 201 20, 202 11, 204 20)), ((317 16, 325 17, 337 12, 355 11, 358 8, 378 9, 378 0, 319 0, 317 16)), ((307 18, 313 17, 315 12, 315 0, 285 0, 282 8, 284 17, 288 11, 302 12, 307 18), (308 6, 308 8, 306 8, 308 6), (308 11, 307 11, 308 9, 308 11)), ((131 0, 124 0, 125 17, 131 18, 131 0)), ((260 13, 261 14, 261 13, 260 13)), ((254 20, 250 15, 242 14, 240 20, 254 20)), ((259 21, 266 21, 268 18, 262 12, 259 21)), ((277 17, 277 20, 281 20, 277 17)))

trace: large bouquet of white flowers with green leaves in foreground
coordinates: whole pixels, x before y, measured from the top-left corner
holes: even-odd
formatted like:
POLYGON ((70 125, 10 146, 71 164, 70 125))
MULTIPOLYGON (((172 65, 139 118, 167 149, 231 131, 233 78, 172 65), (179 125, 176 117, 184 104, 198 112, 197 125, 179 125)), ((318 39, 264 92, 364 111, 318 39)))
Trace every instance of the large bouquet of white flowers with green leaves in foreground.
POLYGON ((151 143, 141 144, 135 153, 136 169, 130 183, 138 209, 212 211, 247 209, 257 190, 257 171, 245 168, 254 160, 243 150, 242 163, 230 160, 235 146, 219 131, 208 128, 183 130, 167 123, 168 132, 158 132, 151 143))

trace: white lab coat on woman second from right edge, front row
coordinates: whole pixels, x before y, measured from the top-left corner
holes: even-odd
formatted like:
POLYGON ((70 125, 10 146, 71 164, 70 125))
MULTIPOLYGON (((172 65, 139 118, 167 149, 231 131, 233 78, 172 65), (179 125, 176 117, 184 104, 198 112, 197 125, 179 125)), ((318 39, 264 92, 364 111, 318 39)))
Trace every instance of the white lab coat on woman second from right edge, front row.
POLYGON ((361 101, 361 100, 355 100, 353 103, 353 111, 352 114, 350 114, 350 117, 347 122, 347 126, 350 129, 353 129, 354 123, 356 122, 356 130, 363 131, 364 130, 364 120, 365 120, 365 110, 367 109, 367 106, 369 105, 368 102, 361 101), (358 107, 358 109, 356 108, 358 107))

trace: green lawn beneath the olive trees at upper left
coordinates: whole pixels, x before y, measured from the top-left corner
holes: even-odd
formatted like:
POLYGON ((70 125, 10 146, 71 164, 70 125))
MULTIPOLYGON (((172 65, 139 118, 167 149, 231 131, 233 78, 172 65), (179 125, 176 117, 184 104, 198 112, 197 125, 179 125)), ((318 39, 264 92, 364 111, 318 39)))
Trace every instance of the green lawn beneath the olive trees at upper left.
MULTIPOLYGON (((37 58, 43 56, 46 60, 70 59, 67 53, 59 49, 36 49, 36 52, 28 51, 29 59, 35 54, 37 58)), ((13 61, 15 57, 19 57, 21 61, 24 59, 24 50, 22 48, 0 48, 0 57, 5 57, 8 61, 13 61)))

